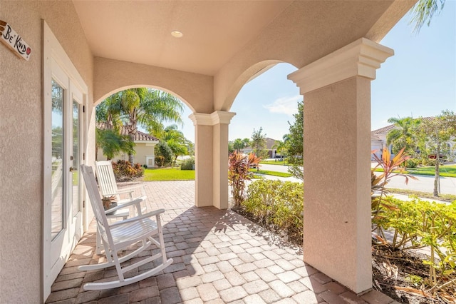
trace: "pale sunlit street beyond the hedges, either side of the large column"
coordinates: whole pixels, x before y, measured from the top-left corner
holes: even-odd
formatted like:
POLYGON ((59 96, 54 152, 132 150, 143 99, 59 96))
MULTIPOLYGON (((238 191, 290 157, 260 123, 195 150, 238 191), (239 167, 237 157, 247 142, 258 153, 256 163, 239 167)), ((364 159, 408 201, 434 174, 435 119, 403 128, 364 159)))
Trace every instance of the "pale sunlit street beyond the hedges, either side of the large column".
MULTIPOLYGON (((288 172, 287 166, 282 165, 266 165, 260 166, 262 170, 288 172)), ((432 193, 434 191, 434 176, 415 176, 418 181, 409 179, 408 184, 405 184, 405 178, 402 176, 395 176, 390 179, 388 188, 408 189, 413 191, 423 191, 432 193)), ((281 181, 299 181, 297 178, 277 178, 275 176, 266 176, 270 179, 280 179, 281 181)), ((455 194, 456 195, 456 178, 440 177, 440 193, 442 194, 455 194)))

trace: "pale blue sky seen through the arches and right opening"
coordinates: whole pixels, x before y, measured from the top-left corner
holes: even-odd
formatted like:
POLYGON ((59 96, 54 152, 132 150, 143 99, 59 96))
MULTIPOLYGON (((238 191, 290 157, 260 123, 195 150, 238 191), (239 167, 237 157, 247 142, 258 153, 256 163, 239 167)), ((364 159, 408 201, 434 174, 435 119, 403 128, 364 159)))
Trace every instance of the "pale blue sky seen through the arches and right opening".
MULTIPOLYGON (((380 41, 395 55, 382 64, 371 83, 372 130, 387 126, 390 117, 456 111, 456 1, 447 0, 442 12, 418 34, 408 24, 410 19, 406 14, 380 41)), ((269 138, 281 139, 288 133, 288 121, 293 123, 297 102, 302 100, 296 85, 286 79, 293 71, 296 68, 290 64, 278 64, 244 85, 230 109, 237 113, 229 125, 230 141, 250 138, 260 127, 269 138)), ((195 141, 190 113, 186 108, 182 114, 182 131, 195 141)))

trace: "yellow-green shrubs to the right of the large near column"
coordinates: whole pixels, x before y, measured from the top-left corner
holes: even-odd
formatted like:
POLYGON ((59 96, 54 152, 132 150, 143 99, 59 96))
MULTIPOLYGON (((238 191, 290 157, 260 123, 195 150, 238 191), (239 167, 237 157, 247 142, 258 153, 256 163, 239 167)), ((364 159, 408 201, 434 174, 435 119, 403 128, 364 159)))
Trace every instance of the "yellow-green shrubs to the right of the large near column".
POLYGON ((423 260, 429 265, 430 285, 455 280, 456 282, 456 204, 446 205, 421 201, 400 201, 385 198, 388 204, 381 206, 381 212, 373 223, 383 231, 393 233, 383 239, 391 248, 430 248, 430 257, 423 260))

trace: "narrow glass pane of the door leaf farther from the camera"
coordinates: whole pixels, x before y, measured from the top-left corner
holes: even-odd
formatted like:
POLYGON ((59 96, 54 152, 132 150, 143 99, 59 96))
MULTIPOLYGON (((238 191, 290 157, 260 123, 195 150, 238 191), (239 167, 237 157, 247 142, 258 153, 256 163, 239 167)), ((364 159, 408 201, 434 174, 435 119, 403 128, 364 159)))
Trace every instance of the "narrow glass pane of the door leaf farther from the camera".
POLYGON ((80 188, 79 188, 79 143, 80 143, 80 110, 81 106, 77 101, 73 101, 73 186, 72 193, 72 205, 73 205, 73 216, 76 216, 80 211, 81 204, 79 203, 80 188))

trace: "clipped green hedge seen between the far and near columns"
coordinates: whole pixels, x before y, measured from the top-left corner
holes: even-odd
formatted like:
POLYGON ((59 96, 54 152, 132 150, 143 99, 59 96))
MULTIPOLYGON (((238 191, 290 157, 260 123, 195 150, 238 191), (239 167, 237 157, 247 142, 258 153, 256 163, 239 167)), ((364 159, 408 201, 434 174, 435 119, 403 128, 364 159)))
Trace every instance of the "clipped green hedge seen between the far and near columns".
POLYGON ((294 240, 301 240, 303 195, 302 183, 254 181, 249 185, 242 208, 264 226, 274 230, 284 230, 294 240))

